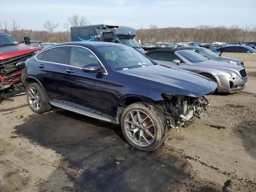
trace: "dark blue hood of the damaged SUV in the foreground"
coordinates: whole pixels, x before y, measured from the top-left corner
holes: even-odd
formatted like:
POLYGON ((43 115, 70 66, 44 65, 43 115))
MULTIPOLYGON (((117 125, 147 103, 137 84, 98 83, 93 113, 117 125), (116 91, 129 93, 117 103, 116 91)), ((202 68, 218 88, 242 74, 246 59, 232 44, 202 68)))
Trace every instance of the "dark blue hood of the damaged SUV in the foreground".
POLYGON ((201 98, 218 86, 216 82, 199 74, 162 65, 120 70, 118 73, 139 78, 136 83, 158 90, 156 94, 169 93, 201 98))

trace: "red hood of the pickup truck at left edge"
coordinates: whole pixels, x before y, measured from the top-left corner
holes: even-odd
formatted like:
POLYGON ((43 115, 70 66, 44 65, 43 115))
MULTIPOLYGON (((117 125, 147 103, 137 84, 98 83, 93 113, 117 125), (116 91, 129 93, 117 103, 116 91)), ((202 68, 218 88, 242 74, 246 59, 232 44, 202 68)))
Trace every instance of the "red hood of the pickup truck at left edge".
POLYGON ((0 60, 5 60, 36 51, 37 48, 27 46, 23 43, 16 45, 0 46, 0 60))

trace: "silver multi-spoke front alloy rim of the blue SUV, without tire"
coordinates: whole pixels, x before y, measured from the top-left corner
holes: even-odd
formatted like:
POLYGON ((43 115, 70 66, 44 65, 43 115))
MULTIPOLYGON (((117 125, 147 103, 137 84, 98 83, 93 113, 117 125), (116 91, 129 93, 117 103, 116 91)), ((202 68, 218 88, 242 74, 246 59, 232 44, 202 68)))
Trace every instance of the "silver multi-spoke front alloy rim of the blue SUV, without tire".
POLYGON ((155 139, 154 122, 140 110, 132 110, 126 115, 124 128, 128 138, 138 146, 149 146, 155 139))

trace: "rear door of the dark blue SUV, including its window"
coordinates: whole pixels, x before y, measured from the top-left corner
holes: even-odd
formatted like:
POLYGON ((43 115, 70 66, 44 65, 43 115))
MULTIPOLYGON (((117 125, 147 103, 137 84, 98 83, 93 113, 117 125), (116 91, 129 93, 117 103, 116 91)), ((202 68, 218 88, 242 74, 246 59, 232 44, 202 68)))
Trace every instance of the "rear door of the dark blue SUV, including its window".
POLYGON ((63 71, 68 64, 70 47, 48 49, 36 56, 36 77, 42 83, 50 99, 63 99, 63 71))

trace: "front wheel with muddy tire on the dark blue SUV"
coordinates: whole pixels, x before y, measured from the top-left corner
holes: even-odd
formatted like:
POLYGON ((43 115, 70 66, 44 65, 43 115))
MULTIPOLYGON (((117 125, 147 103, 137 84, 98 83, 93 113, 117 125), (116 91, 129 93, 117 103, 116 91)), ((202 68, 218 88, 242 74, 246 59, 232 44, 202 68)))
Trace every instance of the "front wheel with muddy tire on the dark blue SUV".
POLYGON ((121 128, 127 142, 142 151, 158 148, 168 134, 164 114, 158 107, 148 102, 130 104, 122 113, 121 128))

